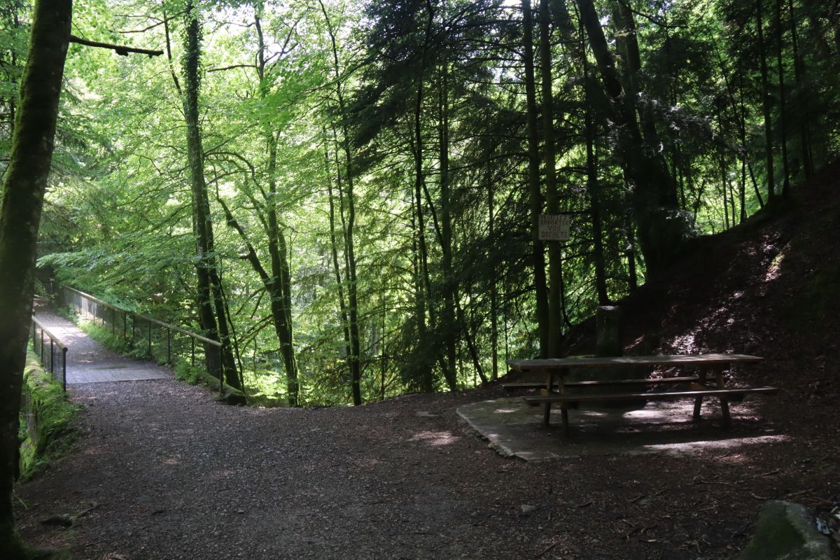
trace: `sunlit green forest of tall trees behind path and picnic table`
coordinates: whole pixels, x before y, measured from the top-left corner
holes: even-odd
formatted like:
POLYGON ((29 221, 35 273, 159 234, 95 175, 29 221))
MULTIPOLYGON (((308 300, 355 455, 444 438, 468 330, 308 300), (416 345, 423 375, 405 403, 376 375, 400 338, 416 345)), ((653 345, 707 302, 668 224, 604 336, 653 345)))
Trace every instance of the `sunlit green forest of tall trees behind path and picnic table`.
POLYGON ((216 339, 264 405, 481 385, 830 163, 838 52, 827 0, 76 3, 36 291, 216 339))

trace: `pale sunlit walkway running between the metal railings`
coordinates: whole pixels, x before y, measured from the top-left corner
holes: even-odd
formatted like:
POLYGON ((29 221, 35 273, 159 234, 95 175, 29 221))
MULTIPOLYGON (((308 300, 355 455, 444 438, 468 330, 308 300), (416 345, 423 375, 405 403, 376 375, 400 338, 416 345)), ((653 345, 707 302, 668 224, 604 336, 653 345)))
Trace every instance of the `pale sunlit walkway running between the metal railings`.
POLYGON ((163 366, 108 350, 45 306, 36 306, 35 317, 67 347, 67 385, 174 378, 163 366))

